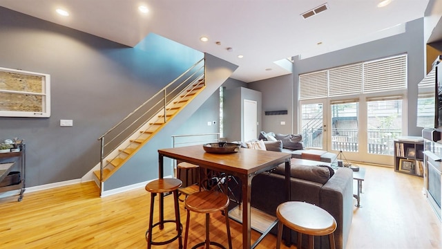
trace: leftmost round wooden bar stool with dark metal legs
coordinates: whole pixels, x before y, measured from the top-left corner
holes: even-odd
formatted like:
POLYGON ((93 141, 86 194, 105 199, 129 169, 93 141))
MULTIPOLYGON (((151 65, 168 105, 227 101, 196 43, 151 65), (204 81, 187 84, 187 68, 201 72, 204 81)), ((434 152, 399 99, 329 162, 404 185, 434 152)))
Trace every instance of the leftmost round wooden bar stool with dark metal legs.
MULTIPOLYGON (((165 245, 178 239, 179 247, 182 248, 182 225, 180 221, 180 206, 178 205, 178 187, 181 187, 182 181, 177 178, 163 178, 151 181, 147 183, 145 189, 147 192, 151 192, 151 214, 149 216, 149 228, 146 231, 147 248, 150 249, 152 245, 165 245), (173 192, 173 202, 175 203, 175 220, 163 220, 160 217, 160 221, 153 224, 153 202, 157 194, 164 194, 173 192), (173 222, 176 224, 177 235, 166 241, 153 241, 152 229, 157 225, 160 225, 160 229, 164 228, 164 223, 173 222)), ((162 208, 162 207, 160 207, 162 208)))

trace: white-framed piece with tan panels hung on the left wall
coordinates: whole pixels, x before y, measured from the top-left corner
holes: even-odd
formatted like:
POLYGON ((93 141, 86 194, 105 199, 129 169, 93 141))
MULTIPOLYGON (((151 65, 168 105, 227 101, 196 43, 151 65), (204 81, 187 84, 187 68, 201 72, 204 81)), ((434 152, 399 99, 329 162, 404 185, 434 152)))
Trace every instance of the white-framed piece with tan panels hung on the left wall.
POLYGON ((1 117, 50 117, 50 75, 0 67, 1 117))

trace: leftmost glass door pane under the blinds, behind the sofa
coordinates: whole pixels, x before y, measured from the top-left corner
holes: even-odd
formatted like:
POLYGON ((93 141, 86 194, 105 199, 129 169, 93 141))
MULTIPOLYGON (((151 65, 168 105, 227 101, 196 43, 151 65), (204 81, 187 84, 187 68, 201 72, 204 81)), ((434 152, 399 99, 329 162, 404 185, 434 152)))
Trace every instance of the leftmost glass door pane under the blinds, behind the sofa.
POLYGON ((325 149, 324 104, 301 104, 302 142, 306 148, 325 149))

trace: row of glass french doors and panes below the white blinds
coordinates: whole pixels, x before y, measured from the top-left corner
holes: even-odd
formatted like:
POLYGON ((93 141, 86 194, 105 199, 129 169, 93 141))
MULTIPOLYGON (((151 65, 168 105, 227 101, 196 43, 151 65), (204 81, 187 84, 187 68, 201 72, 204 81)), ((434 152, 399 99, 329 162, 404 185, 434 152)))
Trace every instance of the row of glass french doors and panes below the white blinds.
POLYGON ((339 160, 390 165, 401 136, 401 99, 355 98, 300 101, 300 133, 307 149, 338 154, 339 160))

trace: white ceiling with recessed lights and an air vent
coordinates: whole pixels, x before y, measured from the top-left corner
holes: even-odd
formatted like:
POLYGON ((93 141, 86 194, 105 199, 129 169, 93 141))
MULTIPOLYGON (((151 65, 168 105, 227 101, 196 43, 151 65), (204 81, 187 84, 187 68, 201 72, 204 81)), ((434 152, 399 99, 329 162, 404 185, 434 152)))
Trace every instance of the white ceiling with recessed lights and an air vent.
POLYGON ((289 73, 274 63, 278 60, 303 59, 403 32, 401 24, 423 17, 428 4, 394 0, 376 8, 378 1, 329 0, 329 10, 309 19, 300 14, 326 0, 0 0, 0 6, 127 46, 157 33, 238 65, 232 78, 253 82, 289 73), (141 4, 148 7, 147 14, 137 10, 141 4), (57 8, 70 16, 57 15, 57 8), (209 42, 200 42, 202 35, 209 42))

